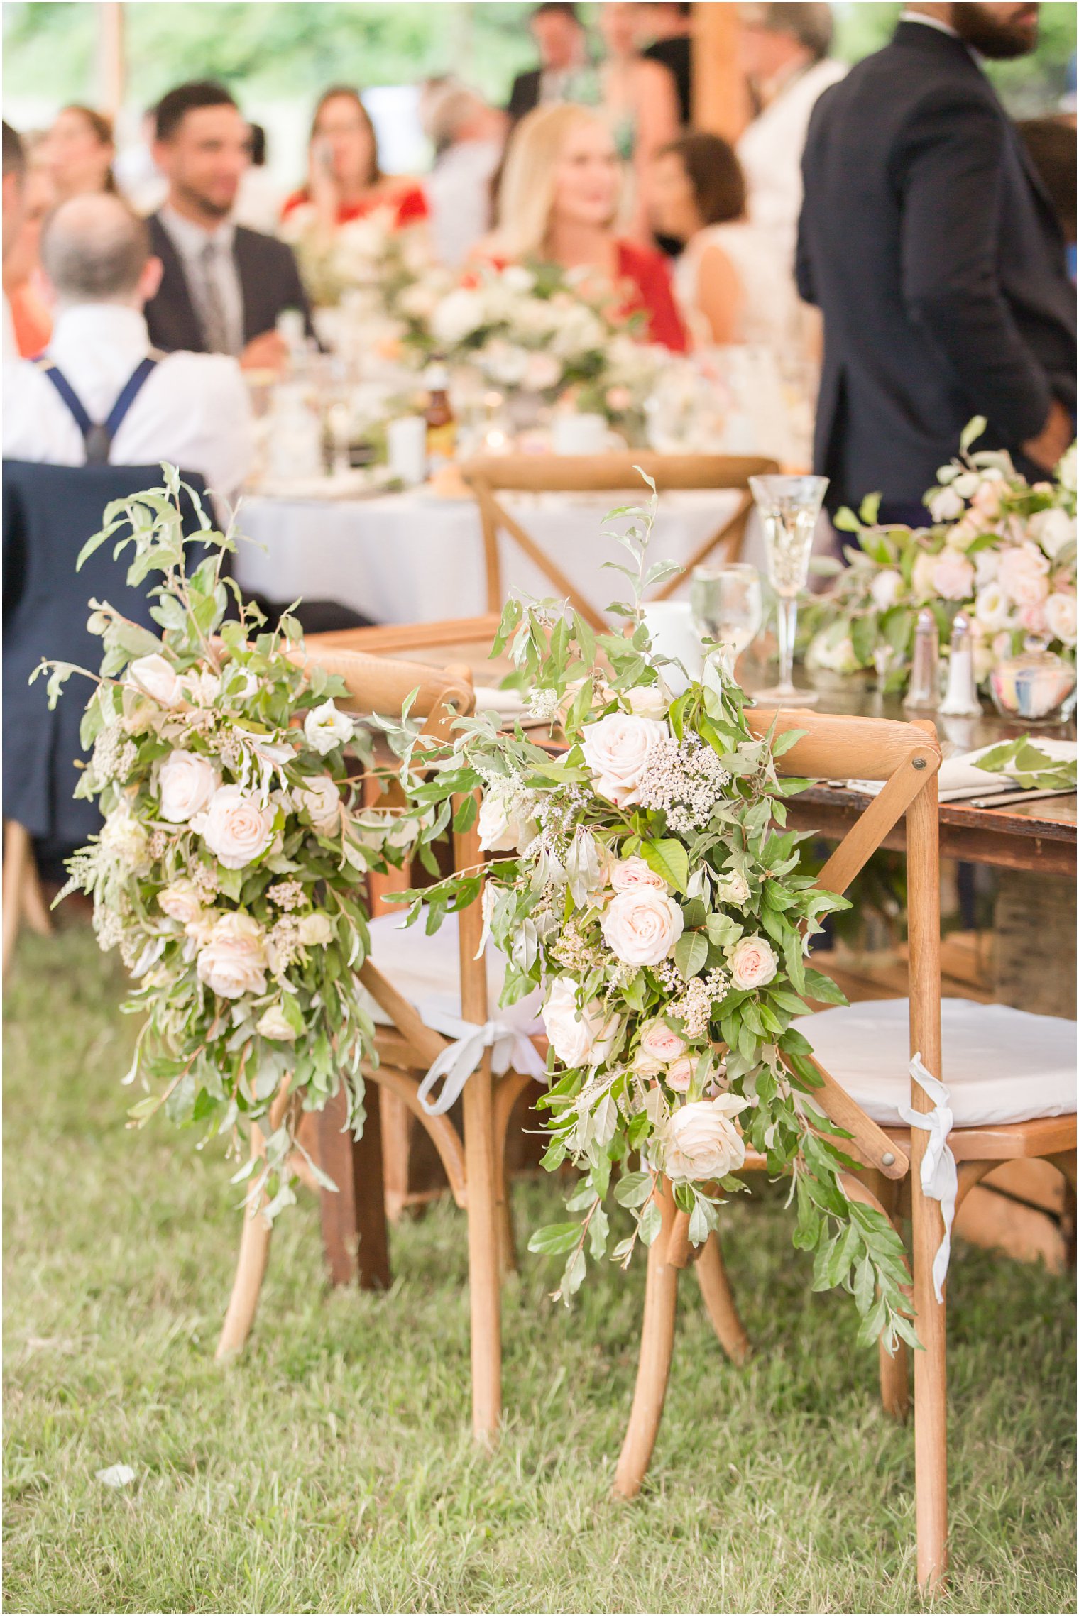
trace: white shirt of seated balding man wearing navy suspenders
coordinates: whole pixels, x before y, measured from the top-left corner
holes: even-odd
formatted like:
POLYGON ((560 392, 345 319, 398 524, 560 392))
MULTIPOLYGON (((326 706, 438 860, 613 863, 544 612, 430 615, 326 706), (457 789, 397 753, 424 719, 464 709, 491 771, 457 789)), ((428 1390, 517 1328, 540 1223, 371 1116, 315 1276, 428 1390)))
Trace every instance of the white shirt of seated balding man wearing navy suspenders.
MULTIPOLYGON (((48 357, 71 383, 92 422, 103 422, 124 381, 150 349, 145 320, 121 304, 61 309, 48 357)), ((3 456, 47 465, 82 465, 86 444, 71 410, 29 359, 3 367, 3 456)), ((165 354, 113 438, 111 465, 170 461, 200 472, 225 499, 252 461, 252 420, 241 368, 226 354, 165 354)))

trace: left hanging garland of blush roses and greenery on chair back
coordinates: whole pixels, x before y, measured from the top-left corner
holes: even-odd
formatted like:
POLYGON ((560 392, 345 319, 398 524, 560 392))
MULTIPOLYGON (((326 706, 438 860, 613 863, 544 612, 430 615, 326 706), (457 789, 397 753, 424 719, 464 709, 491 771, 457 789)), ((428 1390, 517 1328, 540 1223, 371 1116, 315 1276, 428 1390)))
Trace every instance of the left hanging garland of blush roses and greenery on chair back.
POLYGON ((362 1131, 360 1067, 375 1058, 375 1029, 355 974, 368 950, 355 887, 401 852, 388 818, 357 806, 344 747, 363 737, 338 711, 344 682, 296 659, 294 617, 258 632, 262 614, 236 591, 239 619, 225 621, 221 562, 234 537, 213 530, 187 488, 210 554, 186 574, 184 485, 163 470, 163 488, 108 506, 79 556, 126 532, 128 582, 163 574, 149 591, 162 638, 92 601, 100 674, 37 669, 52 669, 50 706, 71 674, 95 680, 81 729, 94 750, 76 797, 97 798, 105 824, 69 860, 60 897, 92 895, 99 944, 120 949, 134 981, 124 1008, 144 1021, 124 1083, 139 1078, 149 1092, 129 1110, 132 1126, 163 1107, 239 1154, 241 1133, 258 1123, 265 1159, 234 1181, 247 1181, 252 1209, 265 1193, 273 1218, 296 1199, 292 1152, 307 1157, 300 1107, 321 1110, 344 1088, 347 1123, 362 1131))

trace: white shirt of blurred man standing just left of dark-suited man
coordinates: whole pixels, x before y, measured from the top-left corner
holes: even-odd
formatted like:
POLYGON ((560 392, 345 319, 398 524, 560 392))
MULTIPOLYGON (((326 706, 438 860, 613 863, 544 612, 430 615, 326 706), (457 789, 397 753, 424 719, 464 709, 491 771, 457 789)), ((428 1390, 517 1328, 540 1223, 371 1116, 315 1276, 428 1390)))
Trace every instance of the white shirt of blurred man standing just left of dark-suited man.
POLYGON ((767 231, 793 280, 798 215, 801 213, 801 154, 817 97, 846 73, 842 61, 814 61, 793 74, 738 141, 746 176, 749 218, 767 231))

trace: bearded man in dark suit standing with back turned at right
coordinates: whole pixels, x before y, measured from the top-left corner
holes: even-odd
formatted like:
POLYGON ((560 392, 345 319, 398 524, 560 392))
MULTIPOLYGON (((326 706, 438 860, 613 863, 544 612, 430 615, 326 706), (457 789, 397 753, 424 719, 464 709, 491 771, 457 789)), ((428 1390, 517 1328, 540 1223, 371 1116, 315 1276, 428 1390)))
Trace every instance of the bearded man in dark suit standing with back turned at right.
POLYGON ((922 494, 972 415, 1043 477, 1076 409, 1076 309, 1053 207, 977 57, 1021 57, 1037 5, 909 5, 817 102, 798 289, 824 314, 814 467, 829 506, 922 494))

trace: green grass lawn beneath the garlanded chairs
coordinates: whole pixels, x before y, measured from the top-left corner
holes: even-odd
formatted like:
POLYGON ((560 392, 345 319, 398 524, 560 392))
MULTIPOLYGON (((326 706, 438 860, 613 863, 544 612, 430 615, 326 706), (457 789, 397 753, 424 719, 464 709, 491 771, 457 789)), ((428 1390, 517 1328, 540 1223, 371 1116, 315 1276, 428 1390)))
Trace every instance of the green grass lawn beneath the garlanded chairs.
MULTIPOLYGON (((523 1257, 506 1430, 467 1433, 464 1220, 393 1236, 388 1296, 330 1291, 310 1197, 275 1236, 247 1356, 213 1346, 236 1191, 220 1147, 124 1131, 134 1026, 89 931, 24 937, 5 1096, 8 1611, 913 1611, 911 1430, 843 1296, 812 1296, 775 1193, 728 1214, 756 1354, 683 1286, 651 1480, 614 1504, 643 1265, 572 1312, 523 1257), (129 1464, 110 1490, 95 1471, 129 1464)), ((515 1191, 519 1227, 556 1185, 515 1191)), ((1074 1611, 1074 1291, 959 1243, 948 1611, 1074 1611)))

